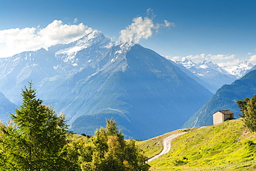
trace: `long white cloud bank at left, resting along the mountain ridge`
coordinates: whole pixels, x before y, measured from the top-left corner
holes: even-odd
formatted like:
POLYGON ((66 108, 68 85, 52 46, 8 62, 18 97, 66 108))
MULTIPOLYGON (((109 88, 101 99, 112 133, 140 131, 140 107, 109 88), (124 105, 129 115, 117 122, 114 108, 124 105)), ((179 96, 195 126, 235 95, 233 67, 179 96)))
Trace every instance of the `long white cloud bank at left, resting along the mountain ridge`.
POLYGON ((87 34, 91 28, 82 23, 66 25, 62 21, 53 21, 46 28, 15 28, 0 30, 0 57, 48 48, 57 43, 70 43, 87 34))

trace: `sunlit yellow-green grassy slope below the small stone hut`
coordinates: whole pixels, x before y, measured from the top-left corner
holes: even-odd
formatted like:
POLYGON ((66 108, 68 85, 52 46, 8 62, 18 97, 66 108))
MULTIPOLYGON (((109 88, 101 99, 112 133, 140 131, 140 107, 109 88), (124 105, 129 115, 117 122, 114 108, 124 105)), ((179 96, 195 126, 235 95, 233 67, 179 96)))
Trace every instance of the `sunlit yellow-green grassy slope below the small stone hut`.
MULTIPOLYGON (((161 151, 158 143, 166 136, 141 141, 138 145, 152 157, 161 151)), ((151 170, 256 170, 255 156, 256 133, 246 132, 241 119, 236 119, 176 138, 168 154, 149 164, 151 170)))

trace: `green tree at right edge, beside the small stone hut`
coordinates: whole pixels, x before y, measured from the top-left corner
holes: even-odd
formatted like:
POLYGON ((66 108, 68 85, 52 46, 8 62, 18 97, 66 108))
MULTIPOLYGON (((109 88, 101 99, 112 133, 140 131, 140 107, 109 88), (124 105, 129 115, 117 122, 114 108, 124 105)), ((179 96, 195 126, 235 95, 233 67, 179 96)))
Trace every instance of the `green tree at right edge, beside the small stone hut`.
POLYGON ((242 114, 239 116, 243 119, 244 125, 251 132, 256 132, 256 94, 252 99, 246 97, 244 101, 237 101, 242 114))

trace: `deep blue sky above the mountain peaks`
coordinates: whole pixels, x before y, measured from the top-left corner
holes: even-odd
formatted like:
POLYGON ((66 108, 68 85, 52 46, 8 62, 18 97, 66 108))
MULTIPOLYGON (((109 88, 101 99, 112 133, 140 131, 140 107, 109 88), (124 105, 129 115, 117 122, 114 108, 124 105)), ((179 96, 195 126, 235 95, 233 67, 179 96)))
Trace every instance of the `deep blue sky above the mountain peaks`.
MULTIPOLYGON (((30 43, 15 41, 17 32, 19 36, 34 31, 35 34, 51 37, 43 47, 60 43, 49 33, 50 28, 57 26, 72 32, 70 35, 65 33, 59 39, 71 35, 72 39, 77 39, 75 36, 82 34, 84 26, 88 26, 118 41, 120 31, 132 26, 135 23, 133 19, 141 17, 141 22, 146 23, 145 19, 150 19, 154 27, 149 28, 152 31, 150 37, 141 38, 138 43, 163 56, 171 59, 189 56, 193 61, 207 59, 220 65, 234 65, 244 60, 256 64, 256 1, 0 0, 0 4, 0 57, 14 52, 12 48, 22 50, 30 46, 30 43), (62 22, 55 22, 53 27, 44 29, 55 20, 62 22), (165 21, 172 25, 167 27, 165 21), (15 28, 19 29, 15 31, 15 28), (10 37, 11 34, 15 37, 10 37), (21 44, 24 46, 18 47, 21 44)), ((35 37, 30 35, 28 39, 32 42, 35 37)), ((33 45, 41 44, 37 42, 33 45)))

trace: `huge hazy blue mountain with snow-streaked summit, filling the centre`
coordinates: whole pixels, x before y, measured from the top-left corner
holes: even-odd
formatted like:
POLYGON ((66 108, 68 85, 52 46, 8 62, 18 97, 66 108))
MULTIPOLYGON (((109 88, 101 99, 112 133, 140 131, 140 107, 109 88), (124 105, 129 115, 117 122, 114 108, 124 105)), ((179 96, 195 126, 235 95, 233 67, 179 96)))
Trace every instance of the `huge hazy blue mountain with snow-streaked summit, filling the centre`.
POLYGON ((114 45, 97 30, 0 63, 0 91, 20 104, 21 88, 32 80, 38 97, 64 112, 77 133, 93 134, 113 118, 126 137, 155 137, 180 128, 212 96, 156 52, 114 45))

